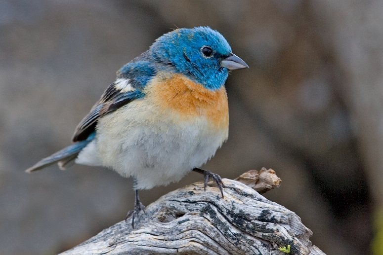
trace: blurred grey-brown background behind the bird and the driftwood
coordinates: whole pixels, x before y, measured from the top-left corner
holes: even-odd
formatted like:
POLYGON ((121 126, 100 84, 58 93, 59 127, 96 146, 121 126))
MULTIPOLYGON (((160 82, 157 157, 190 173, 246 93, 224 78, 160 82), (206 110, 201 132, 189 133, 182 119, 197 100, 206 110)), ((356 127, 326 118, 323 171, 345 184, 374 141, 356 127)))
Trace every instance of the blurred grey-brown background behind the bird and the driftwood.
POLYGON ((326 254, 383 254, 383 1, 0 0, 0 255, 53 255, 125 219, 130 179, 24 170, 71 144, 121 66, 201 25, 250 66, 226 82, 229 140, 204 168, 272 168, 282 184, 265 196, 326 254))

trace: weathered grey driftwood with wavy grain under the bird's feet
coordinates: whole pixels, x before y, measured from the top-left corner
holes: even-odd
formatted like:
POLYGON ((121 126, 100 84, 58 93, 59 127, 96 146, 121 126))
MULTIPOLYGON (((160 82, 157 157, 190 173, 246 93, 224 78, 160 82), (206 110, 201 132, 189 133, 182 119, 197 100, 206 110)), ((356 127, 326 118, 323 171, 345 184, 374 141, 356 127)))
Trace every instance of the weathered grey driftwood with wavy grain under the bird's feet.
MULTIPOLYGON (((271 186, 279 185, 274 171, 262 170, 271 173, 263 174, 271 178, 271 186)), ((264 190, 265 185, 255 185, 261 171, 237 179, 251 184, 254 177, 250 186, 264 190)), ((121 221, 61 255, 283 255, 279 248, 288 245, 290 254, 324 255, 311 244, 311 230, 294 212, 241 182, 223 183, 223 199, 217 187, 208 186, 205 192, 203 182, 193 183, 146 207, 134 229, 130 221, 121 221)))

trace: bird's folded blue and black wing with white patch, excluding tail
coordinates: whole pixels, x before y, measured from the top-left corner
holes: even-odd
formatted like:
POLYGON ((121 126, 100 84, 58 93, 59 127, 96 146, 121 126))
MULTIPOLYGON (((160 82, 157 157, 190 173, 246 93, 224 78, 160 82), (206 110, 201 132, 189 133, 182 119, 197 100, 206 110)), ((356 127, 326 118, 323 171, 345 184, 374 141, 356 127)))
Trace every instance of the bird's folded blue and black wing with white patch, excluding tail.
POLYGON ((116 81, 108 86, 77 126, 73 142, 83 141, 92 134, 100 117, 144 96, 142 88, 156 73, 152 62, 145 58, 141 55, 120 69, 116 81))

